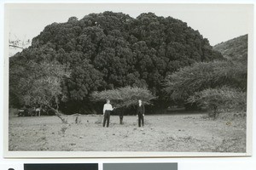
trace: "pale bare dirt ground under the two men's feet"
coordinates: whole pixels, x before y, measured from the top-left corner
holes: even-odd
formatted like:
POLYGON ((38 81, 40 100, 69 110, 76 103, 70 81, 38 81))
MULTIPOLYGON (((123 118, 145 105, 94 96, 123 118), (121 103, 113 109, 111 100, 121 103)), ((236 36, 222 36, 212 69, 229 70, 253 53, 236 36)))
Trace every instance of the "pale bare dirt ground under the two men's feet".
POLYGON ((9 150, 54 151, 172 151, 245 152, 246 118, 212 120, 204 114, 145 116, 137 127, 137 116, 110 117, 102 127, 101 116, 67 116, 68 124, 56 116, 10 117, 9 150))

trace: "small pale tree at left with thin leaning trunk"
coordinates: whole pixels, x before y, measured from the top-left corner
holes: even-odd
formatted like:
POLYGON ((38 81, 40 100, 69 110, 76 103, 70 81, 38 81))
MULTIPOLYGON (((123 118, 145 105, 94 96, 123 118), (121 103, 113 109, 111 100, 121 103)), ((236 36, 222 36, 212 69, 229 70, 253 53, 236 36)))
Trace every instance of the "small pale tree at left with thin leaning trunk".
POLYGON ((62 122, 66 122, 58 111, 60 99, 65 99, 61 83, 65 77, 69 77, 66 66, 55 61, 40 64, 30 62, 30 70, 29 75, 18 82, 20 101, 24 105, 48 106, 62 122))

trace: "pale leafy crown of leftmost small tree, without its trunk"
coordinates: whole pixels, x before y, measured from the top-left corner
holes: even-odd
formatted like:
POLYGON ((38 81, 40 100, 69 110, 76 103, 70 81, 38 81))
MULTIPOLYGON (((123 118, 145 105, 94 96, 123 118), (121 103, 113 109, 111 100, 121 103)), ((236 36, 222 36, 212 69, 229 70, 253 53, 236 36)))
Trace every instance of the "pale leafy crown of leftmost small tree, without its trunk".
MULTIPOLYGON (((30 88, 22 98, 26 105, 50 106, 52 99, 54 99, 55 105, 58 105, 60 97, 65 99, 65 96, 61 96, 61 81, 64 77, 69 76, 65 67, 56 63, 32 63, 31 65, 32 68, 38 68, 38 71, 42 72, 38 72, 36 77, 33 75, 30 77, 32 78, 28 84, 30 88)), ((26 82, 21 82, 21 84, 26 85, 26 82)))

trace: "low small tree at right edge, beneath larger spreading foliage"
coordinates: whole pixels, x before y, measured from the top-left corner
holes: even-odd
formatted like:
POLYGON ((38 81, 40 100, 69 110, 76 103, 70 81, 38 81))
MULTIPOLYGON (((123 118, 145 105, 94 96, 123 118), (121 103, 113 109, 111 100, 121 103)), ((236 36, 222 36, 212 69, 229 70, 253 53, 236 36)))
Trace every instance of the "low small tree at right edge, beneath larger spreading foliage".
POLYGON ((221 111, 246 111, 247 94, 235 88, 207 88, 190 96, 188 102, 207 108, 209 116, 216 118, 221 111))

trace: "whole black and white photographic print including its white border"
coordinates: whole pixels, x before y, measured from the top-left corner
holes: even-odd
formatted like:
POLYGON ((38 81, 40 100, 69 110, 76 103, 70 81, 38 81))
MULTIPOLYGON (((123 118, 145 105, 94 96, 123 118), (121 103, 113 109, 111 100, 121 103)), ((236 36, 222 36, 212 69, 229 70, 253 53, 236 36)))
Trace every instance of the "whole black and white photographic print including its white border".
POLYGON ((4 12, 5 156, 251 155, 252 4, 4 12))

